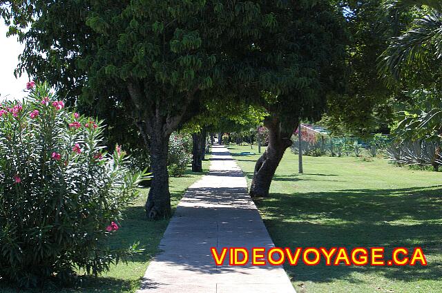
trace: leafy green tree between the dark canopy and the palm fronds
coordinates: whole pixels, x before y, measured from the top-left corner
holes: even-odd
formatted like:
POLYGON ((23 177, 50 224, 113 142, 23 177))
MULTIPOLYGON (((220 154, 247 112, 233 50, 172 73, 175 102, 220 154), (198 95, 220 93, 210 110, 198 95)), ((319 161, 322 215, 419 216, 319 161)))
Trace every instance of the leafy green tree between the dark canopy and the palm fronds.
POLYGON ((345 95, 332 96, 323 120, 329 130, 369 135, 388 131, 393 120, 393 91, 380 77, 376 64, 387 40, 398 30, 382 17, 383 0, 339 1, 349 32, 345 95))

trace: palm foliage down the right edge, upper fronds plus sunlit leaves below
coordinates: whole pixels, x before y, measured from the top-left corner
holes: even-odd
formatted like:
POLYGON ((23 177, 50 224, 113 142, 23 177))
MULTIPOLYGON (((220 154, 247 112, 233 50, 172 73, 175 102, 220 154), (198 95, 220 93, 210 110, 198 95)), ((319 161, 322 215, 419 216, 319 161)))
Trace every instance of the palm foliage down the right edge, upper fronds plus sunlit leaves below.
POLYGON ((442 99, 441 88, 436 86, 442 61, 442 1, 385 0, 384 8, 395 20, 403 12, 412 17, 406 30, 391 39, 378 64, 387 83, 394 85, 401 79, 399 84, 407 84, 415 100, 407 105, 411 109, 398 113, 395 133, 405 141, 433 142, 432 164, 437 170, 442 158, 442 99))

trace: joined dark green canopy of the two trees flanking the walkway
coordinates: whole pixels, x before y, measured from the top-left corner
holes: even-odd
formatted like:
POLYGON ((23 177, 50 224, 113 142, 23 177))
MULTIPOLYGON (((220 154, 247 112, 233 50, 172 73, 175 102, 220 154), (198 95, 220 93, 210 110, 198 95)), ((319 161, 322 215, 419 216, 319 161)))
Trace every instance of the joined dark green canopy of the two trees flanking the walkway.
POLYGON ((345 32, 330 1, 17 1, 4 11, 26 41, 21 70, 102 108, 138 93, 137 111, 173 113, 198 92, 198 109, 222 88, 292 119, 317 116, 340 83, 345 32))

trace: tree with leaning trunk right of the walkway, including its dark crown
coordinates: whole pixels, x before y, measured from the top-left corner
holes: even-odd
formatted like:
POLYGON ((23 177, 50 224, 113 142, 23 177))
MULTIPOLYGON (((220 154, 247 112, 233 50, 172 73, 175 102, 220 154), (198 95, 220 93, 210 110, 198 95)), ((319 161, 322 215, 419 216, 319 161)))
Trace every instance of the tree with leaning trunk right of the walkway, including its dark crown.
POLYGON ((317 119, 327 96, 343 88, 346 32, 333 1, 289 1, 273 10, 273 32, 256 39, 250 66, 265 108, 269 145, 256 162, 250 195, 269 195, 271 180, 300 119, 317 119))

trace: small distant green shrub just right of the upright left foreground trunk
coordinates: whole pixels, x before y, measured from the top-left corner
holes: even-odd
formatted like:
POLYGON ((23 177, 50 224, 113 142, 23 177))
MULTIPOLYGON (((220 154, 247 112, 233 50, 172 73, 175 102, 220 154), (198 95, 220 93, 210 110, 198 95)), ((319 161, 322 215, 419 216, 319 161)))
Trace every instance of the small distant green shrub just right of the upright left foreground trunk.
POLYGON ((184 175, 187 166, 192 162, 192 140, 190 135, 172 133, 169 140, 169 175, 180 177, 184 175))

